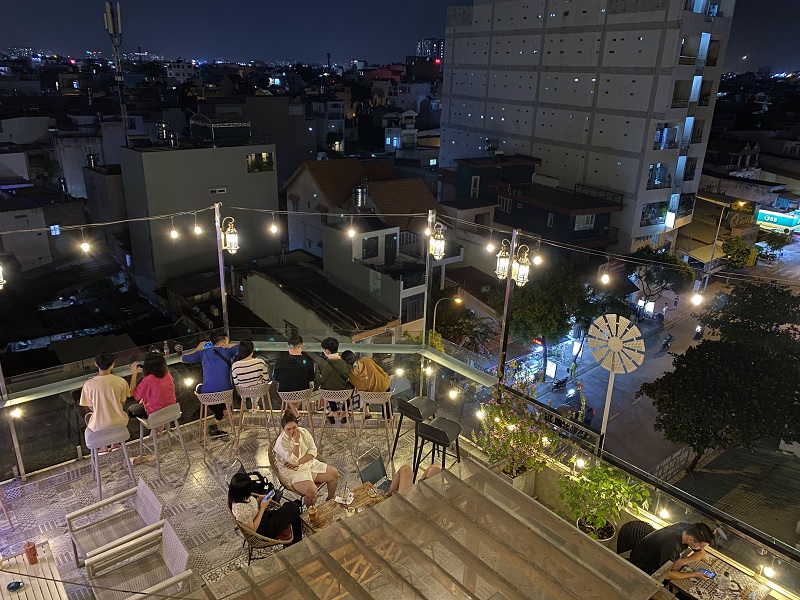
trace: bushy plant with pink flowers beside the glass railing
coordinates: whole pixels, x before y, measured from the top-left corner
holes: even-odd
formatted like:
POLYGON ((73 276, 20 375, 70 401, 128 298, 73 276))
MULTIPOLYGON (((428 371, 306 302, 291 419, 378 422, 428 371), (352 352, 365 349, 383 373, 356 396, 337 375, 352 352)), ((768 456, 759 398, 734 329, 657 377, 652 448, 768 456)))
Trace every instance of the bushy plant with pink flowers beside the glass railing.
MULTIPOLYGON (((512 479, 541 471, 558 446, 544 415, 519 394, 496 389, 478 417, 482 427, 472 433, 473 441, 512 479)), ((529 493, 524 484, 515 486, 529 493)))

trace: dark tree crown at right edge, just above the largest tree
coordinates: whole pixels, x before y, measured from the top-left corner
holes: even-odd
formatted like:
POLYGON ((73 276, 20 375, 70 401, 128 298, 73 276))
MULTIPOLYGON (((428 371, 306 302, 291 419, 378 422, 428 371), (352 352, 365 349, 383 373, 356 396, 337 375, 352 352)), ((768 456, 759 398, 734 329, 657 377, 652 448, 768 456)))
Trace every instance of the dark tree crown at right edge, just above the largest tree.
POLYGON ((694 316, 721 339, 749 344, 756 350, 762 345, 794 341, 791 329, 776 337, 772 327, 775 323, 800 325, 800 297, 785 285, 747 282, 727 296, 718 295, 694 316))

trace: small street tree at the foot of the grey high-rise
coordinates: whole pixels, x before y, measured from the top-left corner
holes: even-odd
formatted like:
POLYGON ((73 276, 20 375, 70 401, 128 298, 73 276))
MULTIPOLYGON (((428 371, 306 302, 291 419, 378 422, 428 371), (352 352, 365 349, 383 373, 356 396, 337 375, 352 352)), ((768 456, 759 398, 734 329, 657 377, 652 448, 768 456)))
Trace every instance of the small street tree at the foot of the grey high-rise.
POLYGON ((630 256, 628 275, 633 275, 646 301, 657 300, 666 290, 683 294, 694 283, 694 269, 674 254, 645 246, 630 256))

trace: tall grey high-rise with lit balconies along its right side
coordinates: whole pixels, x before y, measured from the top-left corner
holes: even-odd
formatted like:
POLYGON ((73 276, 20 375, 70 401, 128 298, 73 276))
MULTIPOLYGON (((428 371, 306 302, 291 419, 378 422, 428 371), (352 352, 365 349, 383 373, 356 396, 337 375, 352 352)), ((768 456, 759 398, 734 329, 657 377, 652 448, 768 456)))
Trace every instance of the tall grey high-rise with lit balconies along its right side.
POLYGON ((692 219, 735 0, 492 0, 448 11, 440 164, 541 158, 624 196, 615 249, 692 219))

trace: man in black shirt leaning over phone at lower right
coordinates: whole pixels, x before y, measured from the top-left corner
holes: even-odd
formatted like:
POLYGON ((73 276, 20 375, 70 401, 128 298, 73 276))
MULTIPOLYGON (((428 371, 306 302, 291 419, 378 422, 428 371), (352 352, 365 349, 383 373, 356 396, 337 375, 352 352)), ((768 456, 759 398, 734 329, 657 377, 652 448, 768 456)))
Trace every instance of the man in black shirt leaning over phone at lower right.
POLYGON ((636 544, 629 560, 648 575, 672 561, 672 569, 666 575, 668 580, 690 577, 707 579, 708 575, 701 571, 682 572, 681 569, 689 563, 703 560, 706 557, 705 547, 713 541, 714 532, 705 523, 674 523, 657 529, 636 544), (681 558, 687 546, 691 553, 681 558))

